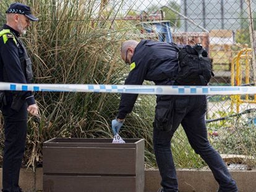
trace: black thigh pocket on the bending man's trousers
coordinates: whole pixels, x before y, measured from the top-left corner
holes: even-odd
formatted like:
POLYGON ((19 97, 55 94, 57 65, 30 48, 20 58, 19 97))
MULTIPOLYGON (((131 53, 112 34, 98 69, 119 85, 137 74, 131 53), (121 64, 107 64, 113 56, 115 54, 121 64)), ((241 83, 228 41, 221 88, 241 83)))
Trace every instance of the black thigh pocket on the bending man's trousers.
POLYGON ((173 98, 160 99, 157 102, 153 126, 163 131, 170 131, 173 128, 173 98))

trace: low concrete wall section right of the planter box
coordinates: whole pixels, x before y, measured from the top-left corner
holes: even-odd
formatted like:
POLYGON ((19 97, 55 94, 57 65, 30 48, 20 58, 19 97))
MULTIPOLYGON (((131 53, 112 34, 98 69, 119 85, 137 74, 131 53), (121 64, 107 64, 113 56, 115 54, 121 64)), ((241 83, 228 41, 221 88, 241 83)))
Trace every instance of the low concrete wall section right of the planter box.
MULTIPOLYGON (((256 191, 256 170, 231 170, 239 192, 256 191)), ((216 192, 218 183, 210 170, 177 169, 179 191, 181 192, 216 192)), ((161 178, 158 170, 145 170, 145 192, 156 192, 160 187, 161 178)))

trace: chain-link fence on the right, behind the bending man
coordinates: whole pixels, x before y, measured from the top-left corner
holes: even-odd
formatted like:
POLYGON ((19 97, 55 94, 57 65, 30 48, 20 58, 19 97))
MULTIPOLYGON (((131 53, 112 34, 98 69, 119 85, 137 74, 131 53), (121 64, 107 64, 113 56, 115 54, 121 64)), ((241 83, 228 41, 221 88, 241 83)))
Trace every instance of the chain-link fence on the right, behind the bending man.
MULTIPOLYGON (((101 1, 102 12, 111 9, 116 13, 108 18, 111 28, 121 22, 124 39, 202 43, 215 73, 209 85, 255 85, 255 1, 101 1), (139 34, 132 32, 136 29, 139 34)), ((209 138, 230 169, 254 166, 255 104, 254 95, 208 97, 209 138)), ((177 165, 202 167, 185 140, 178 130, 172 146, 177 165)))

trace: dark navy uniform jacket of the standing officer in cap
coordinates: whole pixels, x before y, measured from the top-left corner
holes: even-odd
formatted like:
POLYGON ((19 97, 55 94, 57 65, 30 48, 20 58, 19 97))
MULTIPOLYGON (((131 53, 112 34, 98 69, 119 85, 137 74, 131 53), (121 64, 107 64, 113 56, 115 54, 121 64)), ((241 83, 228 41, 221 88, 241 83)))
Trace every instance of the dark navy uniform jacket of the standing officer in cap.
MULTIPOLYGON (((20 36, 18 31, 8 25, 4 25, 3 29, 9 29, 17 37, 20 36)), ((2 29, 1 29, 2 30, 2 29)), ((17 41, 17 43, 19 43, 17 41)), ((20 57, 23 56, 22 48, 18 48, 13 38, 8 38, 4 43, 0 38, 0 81, 11 83, 30 83, 26 80, 25 74, 20 64, 20 57)), ((17 93, 17 92, 16 92, 17 93)), ((22 98, 26 99, 28 105, 35 104, 35 99, 31 91, 23 91, 22 98)))

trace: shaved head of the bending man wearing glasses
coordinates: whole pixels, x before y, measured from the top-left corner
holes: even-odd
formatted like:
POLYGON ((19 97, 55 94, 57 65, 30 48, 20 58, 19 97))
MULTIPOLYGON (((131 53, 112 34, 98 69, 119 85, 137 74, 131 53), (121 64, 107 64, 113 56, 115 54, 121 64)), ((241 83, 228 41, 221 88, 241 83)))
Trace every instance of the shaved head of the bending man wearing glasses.
POLYGON ((135 40, 127 40, 122 43, 121 57, 127 64, 130 64, 132 56, 134 56, 134 50, 138 44, 139 42, 135 40))

